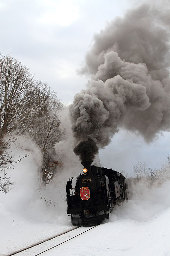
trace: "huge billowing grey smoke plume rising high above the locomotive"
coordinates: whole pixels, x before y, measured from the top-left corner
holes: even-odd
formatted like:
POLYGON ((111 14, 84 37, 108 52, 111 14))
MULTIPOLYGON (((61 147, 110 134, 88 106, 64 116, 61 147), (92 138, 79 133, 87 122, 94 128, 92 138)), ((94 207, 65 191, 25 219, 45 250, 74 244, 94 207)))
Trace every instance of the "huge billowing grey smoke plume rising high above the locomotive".
MULTIPOLYGON (((74 152, 81 160, 83 141, 90 138, 103 148, 119 127, 147 142, 169 131, 169 17, 170 11, 142 5, 94 36, 81 70, 91 82, 70 105, 73 136, 81 145, 74 152)), ((85 154, 94 159, 97 151, 88 149, 85 154)))

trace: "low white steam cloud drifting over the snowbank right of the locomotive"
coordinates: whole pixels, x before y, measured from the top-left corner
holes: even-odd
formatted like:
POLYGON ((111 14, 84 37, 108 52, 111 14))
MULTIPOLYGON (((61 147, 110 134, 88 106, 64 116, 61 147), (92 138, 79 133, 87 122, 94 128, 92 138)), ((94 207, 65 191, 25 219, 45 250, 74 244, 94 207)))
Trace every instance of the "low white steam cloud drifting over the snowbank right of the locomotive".
POLYGON ((147 180, 133 184, 131 200, 116 205, 110 214, 109 221, 130 219, 147 221, 170 206, 170 181, 150 186, 147 180), (163 196, 165 195, 165 196, 163 196))

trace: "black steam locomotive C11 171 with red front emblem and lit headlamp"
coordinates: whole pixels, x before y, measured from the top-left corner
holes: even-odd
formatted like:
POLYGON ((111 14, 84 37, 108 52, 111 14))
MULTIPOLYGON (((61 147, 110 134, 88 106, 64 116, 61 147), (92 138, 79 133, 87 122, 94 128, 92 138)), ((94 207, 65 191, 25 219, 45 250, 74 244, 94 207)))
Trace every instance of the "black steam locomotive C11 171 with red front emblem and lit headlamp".
POLYGON ((112 169, 91 166, 92 161, 81 162, 83 174, 67 181, 67 214, 73 225, 88 226, 109 218, 115 204, 128 199, 125 177, 112 169), (75 187, 72 188, 72 182, 75 187))

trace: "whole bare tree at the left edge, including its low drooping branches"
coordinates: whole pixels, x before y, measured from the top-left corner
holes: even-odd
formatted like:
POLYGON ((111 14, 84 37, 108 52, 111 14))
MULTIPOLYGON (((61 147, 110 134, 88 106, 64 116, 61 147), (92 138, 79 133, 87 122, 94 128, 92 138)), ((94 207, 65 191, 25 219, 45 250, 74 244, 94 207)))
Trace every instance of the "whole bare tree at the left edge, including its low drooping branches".
POLYGON ((10 55, 0 55, 0 191, 4 193, 14 184, 6 170, 22 159, 14 160, 10 146, 16 141, 16 132, 32 122, 37 112, 30 104, 33 85, 27 67, 10 55))

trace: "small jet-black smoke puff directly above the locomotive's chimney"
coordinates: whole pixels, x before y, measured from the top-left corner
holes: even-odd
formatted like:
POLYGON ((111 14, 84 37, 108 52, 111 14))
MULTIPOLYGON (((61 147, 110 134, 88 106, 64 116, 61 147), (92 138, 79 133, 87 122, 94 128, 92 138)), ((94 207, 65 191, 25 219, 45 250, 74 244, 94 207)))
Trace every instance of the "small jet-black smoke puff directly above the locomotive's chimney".
POLYGON ((99 148, 92 139, 81 141, 74 149, 74 153, 79 156, 81 162, 93 160, 99 148))

